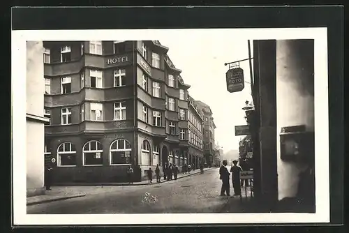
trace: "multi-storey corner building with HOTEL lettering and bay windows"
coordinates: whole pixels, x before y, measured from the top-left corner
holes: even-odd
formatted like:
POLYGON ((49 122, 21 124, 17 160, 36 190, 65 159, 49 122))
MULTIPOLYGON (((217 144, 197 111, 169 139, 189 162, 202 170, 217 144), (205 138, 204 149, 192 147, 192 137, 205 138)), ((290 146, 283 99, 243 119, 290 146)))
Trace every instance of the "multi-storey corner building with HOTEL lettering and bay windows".
POLYGON ((135 180, 188 163, 188 89, 158 40, 45 41, 45 164, 54 183, 135 180))

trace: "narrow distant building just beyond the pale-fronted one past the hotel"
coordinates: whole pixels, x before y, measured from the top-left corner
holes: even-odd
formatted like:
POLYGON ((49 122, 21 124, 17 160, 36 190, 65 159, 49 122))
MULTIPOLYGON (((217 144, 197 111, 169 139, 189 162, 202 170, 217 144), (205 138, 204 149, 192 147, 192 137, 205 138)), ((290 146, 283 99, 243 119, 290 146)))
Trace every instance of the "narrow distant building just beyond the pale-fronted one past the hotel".
POLYGON ((214 124, 213 113, 209 105, 197 100, 198 109, 202 112, 204 117, 204 156, 205 163, 209 166, 213 165, 214 158, 214 130, 216 125, 214 124))

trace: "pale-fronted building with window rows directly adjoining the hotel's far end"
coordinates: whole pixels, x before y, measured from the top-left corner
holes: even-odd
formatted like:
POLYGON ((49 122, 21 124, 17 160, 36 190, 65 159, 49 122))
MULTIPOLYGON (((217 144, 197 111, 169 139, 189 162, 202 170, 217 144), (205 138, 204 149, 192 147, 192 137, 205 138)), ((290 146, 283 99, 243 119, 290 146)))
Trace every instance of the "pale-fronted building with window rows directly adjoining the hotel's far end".
POLYGON ((204 119, 202 113, 198 111, 196 101, 191 96, 188 96, 188 98, 188 163, 197 169, 200 167, 200 165, 205 163, 203 153, 204 144, 202 138, 204 119))

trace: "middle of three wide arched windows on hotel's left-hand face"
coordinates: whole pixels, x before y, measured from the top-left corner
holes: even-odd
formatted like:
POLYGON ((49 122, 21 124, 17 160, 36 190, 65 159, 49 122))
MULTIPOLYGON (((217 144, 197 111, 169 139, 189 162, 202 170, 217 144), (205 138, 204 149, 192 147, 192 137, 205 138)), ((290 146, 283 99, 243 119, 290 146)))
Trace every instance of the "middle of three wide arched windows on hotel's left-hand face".
POLYGON ((103 165, 103 147, 101 142, 89 141, 82 148, 82 165, 103 165))

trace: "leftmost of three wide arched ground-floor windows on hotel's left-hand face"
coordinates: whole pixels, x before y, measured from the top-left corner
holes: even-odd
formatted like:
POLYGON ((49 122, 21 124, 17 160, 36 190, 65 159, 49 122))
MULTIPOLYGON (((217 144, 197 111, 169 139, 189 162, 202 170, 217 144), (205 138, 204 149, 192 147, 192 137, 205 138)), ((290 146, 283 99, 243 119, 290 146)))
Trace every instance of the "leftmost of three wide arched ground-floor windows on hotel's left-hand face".
POLYGON ((76 150, 75 145, 70 142, 64 142, 57 149, 57 165, 59 167, 75 167, 76 166, 76 150))

